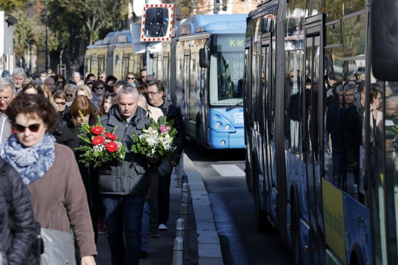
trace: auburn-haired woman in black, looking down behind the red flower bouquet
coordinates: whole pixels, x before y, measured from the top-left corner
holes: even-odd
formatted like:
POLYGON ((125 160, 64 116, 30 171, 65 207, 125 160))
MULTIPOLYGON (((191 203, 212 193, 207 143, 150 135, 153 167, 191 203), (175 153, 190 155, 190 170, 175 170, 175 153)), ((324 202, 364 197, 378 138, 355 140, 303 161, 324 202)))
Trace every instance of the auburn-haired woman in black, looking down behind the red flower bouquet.
MULTIPOLYGON (((72 105, 60 117, 60 121, 54 129, 56 142, 75 150, 80 145, 77 128, 85 123, 93 125, 95 121, 94 107, 90 99, 84 95, 78 95, 73 100, 72 105), (79 110, 83 113, 84 119, 79 115, 79 110)), ((87 168, 80 161, 81 151, 74 151, 76 161, 78 161, 79 171, 83 178, 86 188, 87 200, 93 224, 94 238, 98 240, 98 217, 102 207, 102 201, 98 188, 98 171, 93 167, 87 168)))

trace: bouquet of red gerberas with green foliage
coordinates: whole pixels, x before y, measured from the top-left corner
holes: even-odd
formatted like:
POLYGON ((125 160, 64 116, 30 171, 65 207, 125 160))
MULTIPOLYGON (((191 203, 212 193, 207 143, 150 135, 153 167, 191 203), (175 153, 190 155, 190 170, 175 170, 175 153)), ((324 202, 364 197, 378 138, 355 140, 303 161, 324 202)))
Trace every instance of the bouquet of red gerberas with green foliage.
MULTIPOLYGON (((79 111, 79 114, 84 119, 82 112, 79 111)), ((84 163, 86 167, 94 164, 94 168, 97 168, 111 160, 123 161, 126 148, 113 134, 114 130, 112 133, 105 131, 101 125, 100 116, 94 126, 90 127, 85 123, 77 129, 82 145, 75 150, 82 151, 80 162, 84 163)))

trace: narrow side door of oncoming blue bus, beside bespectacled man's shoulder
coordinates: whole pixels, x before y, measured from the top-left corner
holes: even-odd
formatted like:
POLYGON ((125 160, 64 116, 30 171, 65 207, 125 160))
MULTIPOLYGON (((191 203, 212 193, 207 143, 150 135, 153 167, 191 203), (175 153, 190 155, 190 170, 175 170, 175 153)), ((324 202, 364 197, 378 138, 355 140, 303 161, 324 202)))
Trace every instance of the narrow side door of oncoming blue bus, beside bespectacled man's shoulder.
POLYGON ((183 70, 183 101, 181 110, 184 118, 185 130, 189 132, 190 126, 190 84, 191 84, 191 50, 184 49, 184 70, 183 70))

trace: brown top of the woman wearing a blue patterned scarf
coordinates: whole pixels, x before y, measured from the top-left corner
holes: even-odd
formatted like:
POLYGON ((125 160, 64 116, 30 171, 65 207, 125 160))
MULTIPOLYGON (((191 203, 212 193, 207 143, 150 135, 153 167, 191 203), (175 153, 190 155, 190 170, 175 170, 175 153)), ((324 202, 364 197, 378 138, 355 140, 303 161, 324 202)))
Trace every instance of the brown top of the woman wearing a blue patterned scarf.
POLYGON ((43 177, 28 185, 35 219, 41 227, 69 232, 81 256, 97 255, 86 190, 73 151, 55 144, 55 161, 43 177))

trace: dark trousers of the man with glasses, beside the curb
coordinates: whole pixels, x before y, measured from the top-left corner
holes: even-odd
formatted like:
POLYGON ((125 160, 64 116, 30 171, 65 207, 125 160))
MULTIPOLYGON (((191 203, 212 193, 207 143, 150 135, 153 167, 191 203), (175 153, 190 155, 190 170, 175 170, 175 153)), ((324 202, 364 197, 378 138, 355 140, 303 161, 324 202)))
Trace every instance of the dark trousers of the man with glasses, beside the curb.
POLYGON ((169 209, 170 209, 170 182, 171 173, 166 176, 159 177, 159 224, 167 224, 169 220, 169 209))

